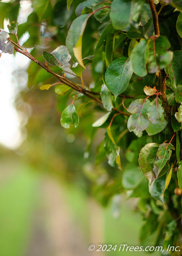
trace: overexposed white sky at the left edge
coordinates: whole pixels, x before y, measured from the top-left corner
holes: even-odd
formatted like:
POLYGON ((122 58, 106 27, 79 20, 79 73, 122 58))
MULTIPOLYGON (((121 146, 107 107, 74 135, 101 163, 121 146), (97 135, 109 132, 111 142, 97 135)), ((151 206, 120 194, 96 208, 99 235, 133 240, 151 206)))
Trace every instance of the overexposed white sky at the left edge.
MULTIPOLYGON (((31 1, 21 0, 19 24, 27 20, 31 12, 30 6, 31 1)), ((8 32, 6 27, 4 30, 8 32)), ((13 54, 10 55, 8 53, 3 53, 0 58, 0 143, 11 149, 20 146, 24 137, 20 129, 22 116, 17 113, 14 107, 18 85, 12 73, 19 68, 26 68, 29 60, 25 58, 20 54, 15 57, 13 54)), ((16 76, 16 72, 14 76, 16 76)))

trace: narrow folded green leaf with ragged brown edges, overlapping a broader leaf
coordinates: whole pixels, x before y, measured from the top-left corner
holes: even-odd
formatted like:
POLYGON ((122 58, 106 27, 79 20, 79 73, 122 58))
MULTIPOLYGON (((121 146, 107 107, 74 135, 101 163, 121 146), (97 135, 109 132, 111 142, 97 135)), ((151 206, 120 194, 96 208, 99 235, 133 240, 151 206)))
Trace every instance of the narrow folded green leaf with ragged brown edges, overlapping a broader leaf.
POLYGON ((153 168, 156 178, 158 178, 159 173, 162 171, 163 167, 170 159, 172 153, 171 149, 175 150, 174 146, 171 143, 162 143, 161 145, 159 145, 157 157, 154 162, 153 168))

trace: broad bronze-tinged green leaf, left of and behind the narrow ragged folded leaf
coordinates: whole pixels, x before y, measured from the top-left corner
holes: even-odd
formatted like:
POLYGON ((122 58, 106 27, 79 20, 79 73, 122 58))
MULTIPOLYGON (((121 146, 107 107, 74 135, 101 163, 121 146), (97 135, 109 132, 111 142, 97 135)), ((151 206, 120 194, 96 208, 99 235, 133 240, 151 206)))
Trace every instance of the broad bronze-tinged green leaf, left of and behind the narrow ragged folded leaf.
POLYGON ((159 144, 148 143, 141 149, 141 152, 139 154, 138 162, 140 165, 140 169, 149 180, 149 184, 151 184, 155 178, 153 176, 153 167, 158 148, 159 144))

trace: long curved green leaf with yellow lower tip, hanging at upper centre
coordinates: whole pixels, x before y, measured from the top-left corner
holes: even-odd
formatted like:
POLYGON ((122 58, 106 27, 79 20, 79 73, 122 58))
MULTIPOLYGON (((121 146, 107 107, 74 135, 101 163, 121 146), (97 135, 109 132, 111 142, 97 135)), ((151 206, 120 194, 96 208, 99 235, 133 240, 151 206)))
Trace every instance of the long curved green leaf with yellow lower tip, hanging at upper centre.
POLYGON ((84 14, 76 18, 68 31, 66 45, 71 56, 76 58, 79 64, 84 67, 82 61, 82 37, 90 14, 84 14))

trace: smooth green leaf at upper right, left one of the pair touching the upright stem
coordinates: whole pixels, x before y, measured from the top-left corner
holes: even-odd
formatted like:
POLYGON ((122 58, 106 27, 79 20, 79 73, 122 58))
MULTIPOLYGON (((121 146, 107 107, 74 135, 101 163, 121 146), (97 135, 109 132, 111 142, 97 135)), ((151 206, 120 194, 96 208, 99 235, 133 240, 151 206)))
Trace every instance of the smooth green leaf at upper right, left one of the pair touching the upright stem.
POLYGON ((147 69, 145 66, 145 52, 146 52, 147 41, 141 40, 139 44, 135 46, 131 53, 131 64, 135 74, 138 76, 146 76, 147 69))

